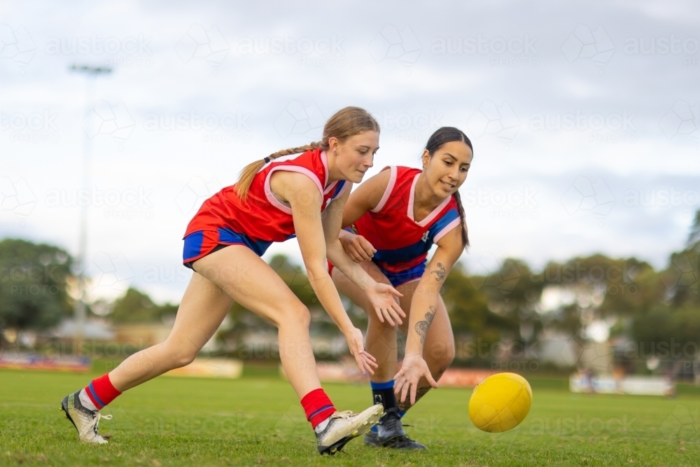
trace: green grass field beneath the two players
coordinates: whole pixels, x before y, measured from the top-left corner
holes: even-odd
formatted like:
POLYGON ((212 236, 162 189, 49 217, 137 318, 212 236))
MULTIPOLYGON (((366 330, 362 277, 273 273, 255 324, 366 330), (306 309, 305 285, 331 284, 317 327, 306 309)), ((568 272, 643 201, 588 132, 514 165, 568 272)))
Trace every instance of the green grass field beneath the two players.
MULTIPOLYGON (((96 373, 97 375, 97 373, 96 373)), ((470 422, 470 391, 437 389, 405 417, 427 452, 365 447, 333 457, 314 435, 287 382, 272 372, 233 381, 160 377, 128 391, 103 413, 109 445, 83 445, 59 401, 91 375, 0 371, 0 465, 109 466, 693 466, 700 465, 700 395, 675 399, 581 396, 563 380, 531 379, 528 418, 482 433, 470 422)), ((370 403, 364 386, 325 384, 339 410, 370 403)))

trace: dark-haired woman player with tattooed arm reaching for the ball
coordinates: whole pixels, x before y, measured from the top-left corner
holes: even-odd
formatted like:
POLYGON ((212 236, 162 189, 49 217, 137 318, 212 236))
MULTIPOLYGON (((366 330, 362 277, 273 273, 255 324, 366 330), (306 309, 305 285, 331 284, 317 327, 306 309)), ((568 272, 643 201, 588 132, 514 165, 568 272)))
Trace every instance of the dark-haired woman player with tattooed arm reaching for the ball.
POLYGON ((342 230, 340 239, 346 253, 374 280, 400 291, 401 308, 410 310, 407 322, 395 320, 407 341, 402 368, 394 375, 396 323, 376 313, 367 294, 331 266, 338 290, 367 312, 367 350, 379 364, 370 380, 374 402, 384 405, 385 414, 365 435, 367 445, 426 449, 406 436, 400 418, 430 387, 437 387, 436 380, 454 358, 454 336, 440 288, 469 245, 458 188, 467 178, 472 155, 463 132, 442 127, 428 139, 423 170, 385 167, 360 185, 345 206, 343 225, 351 229, 342 230), (437 250, 426 267, 433 244, 437 250))

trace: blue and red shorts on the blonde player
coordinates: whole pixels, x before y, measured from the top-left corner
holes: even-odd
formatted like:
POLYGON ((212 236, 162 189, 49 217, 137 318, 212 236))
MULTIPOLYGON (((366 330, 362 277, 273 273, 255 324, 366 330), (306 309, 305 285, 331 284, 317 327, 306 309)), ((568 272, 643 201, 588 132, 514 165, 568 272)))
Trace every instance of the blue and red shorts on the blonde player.
POLYGON ((185 237, 182 263, 193 270, 192 263, 196 260, 229 245, 245 245, 258 256, 262 256, 271 244, 272 242, 264 240, 253 240, 248 235, 225 227, 218 230, 199 230, 185 237))

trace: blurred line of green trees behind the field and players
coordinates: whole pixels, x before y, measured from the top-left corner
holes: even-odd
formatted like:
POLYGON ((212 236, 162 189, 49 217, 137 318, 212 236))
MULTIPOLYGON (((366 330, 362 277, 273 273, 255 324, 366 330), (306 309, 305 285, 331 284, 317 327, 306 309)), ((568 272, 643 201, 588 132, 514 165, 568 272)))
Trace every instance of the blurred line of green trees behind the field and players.
MULTIPOLYGON (((447 277, 442 296, 457 340, 528 344, 545 338, 545 330, 591 340, 591 326, 605 323, 610 337, 622 336, 647 355, 659 354, 660 343, 700 345, 698 263, 700 211, 687 242, 655 270, 638 258, 602 254, 551 261, 533 270, 517 258, 503 260, 488 274, 470 274, 458 263, 447 277)), ((71 290, 77 280, 74 260, 64 249, 25 239, 0 241, 0 328, 46 330, 72 315, 71 290)), ((307 305, 311 333, 339 333, 321 308, 302 266, 286 256, 273 256, 269 265, 307 305)), ((351 319, 365 326, 366 316, 344 300, 351 319)), ((92 303, 94 314, 113 323, 166 321, 176 304, 158 305, 143 291, 129 288, 114 302, 92 303), (106 308, 105 308, 106 307, 106 308), (105 313, 105 309, 107 313, 105 313)), ((251 331, 274 332, 274 327, 234 303, 232 326, 221 338, 236 345, 251 331)))

